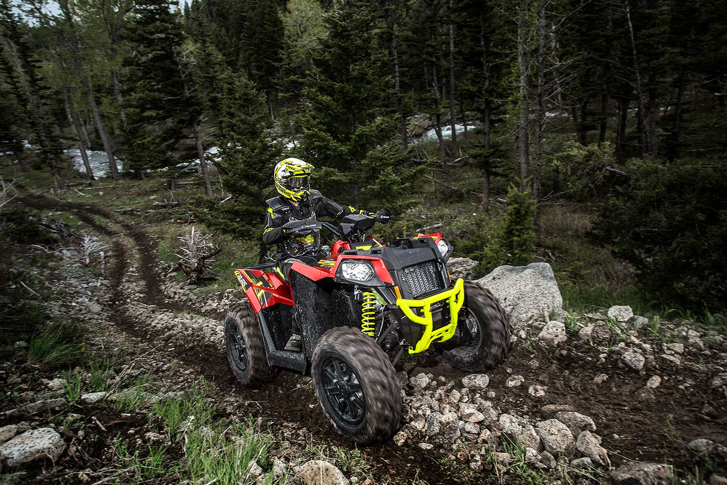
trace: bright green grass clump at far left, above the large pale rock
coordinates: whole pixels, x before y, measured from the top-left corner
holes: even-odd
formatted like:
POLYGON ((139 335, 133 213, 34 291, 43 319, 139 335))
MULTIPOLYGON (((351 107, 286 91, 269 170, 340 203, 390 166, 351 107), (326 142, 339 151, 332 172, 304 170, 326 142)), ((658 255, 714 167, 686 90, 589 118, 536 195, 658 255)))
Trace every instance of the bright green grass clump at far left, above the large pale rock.
POLYGON ((31 338, 28 364, 59 366, 78 361, 84 342, 78 326, 65 322, 52 324, 31 338))

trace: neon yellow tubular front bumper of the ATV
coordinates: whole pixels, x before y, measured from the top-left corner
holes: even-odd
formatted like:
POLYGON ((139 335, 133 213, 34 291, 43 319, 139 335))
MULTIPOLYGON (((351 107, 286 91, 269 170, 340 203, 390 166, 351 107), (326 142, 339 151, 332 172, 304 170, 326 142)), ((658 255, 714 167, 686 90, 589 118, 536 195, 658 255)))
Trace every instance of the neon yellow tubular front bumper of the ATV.
POLYGON ((427 350, 432 342, 444 342, 451 339, 454 335, 454 330, 457 329, 457 316, 459 315, 459 309, 465 303, 465 280, 459 278, 454 284, 452 289, 448 289, 444 292, 433 294, 430 297, 422 298, 422 300, 406 300, 404 298, 398 298, 396 305, 401 308, 406 318, 413 321, 415 324, 424 326, 424 333, 422 338, 419 339, 417 345, 414 348, 409 347, 409 353, 419 353, 427 350), (432 305, 442 300, 449 300, 449 324, 438 328, 432 329, 432 305), (414 313, 412 308, 422 308, 423 316, 419 316, 414 313))

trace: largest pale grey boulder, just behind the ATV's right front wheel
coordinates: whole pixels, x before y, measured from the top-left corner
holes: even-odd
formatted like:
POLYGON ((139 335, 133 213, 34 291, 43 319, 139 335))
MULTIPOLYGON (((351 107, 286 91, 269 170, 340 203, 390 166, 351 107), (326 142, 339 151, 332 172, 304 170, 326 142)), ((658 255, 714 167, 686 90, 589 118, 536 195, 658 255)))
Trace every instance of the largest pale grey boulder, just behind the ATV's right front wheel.
POLYGON ((561 290, 547 262, 499 266, 477 282, 497 297, 515 328, 541 318, 546 310, 563 308, 561 290))

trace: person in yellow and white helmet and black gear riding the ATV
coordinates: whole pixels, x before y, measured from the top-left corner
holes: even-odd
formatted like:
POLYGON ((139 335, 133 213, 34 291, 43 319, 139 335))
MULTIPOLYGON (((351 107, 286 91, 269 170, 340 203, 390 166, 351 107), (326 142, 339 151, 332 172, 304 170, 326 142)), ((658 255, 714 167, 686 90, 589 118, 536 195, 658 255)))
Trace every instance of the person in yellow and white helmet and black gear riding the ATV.
MULTIPOLYGON (((268 214, 265 215, 265 229, 262 231, 262 242, 278 244, 278 271, 284 278, 288 277, 294 262, 314 264, 321 254, 310 254, 318 246, 318 234, 310 233, 286 234, 294 231, 305 221, 318 220, 318 217, 335 217, 338 220, 351 214, 364 214, 376 217, 374 213, 360 211, 352 206, 342 206, 331 199, 326 199, 318 191, 310 190, 310 172, 313 165, 300 159, 285 159, 275 167, 273 177, 279 196, 265 201, 268 214), (309 254, 296 256, 295 254, 309 254)), ((300 327, 293 323, 293 334, 285 346, 285 350, 300 352, 300 327)))

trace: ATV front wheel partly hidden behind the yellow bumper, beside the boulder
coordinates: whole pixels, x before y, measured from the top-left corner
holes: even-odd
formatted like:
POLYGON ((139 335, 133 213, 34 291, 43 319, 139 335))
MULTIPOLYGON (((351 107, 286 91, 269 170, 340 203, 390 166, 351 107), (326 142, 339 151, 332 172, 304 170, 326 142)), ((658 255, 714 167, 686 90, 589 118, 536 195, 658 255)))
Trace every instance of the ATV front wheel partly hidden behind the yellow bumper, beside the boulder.
POLYGON ((510 347, 507 315, 497 298, 474 281, 465 281, 468 313, 459 324, 470 326, 473 345, 442 353, 443 361, 468 372, 483 372, 499 366, 510 347))

